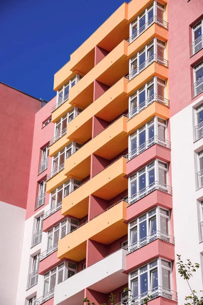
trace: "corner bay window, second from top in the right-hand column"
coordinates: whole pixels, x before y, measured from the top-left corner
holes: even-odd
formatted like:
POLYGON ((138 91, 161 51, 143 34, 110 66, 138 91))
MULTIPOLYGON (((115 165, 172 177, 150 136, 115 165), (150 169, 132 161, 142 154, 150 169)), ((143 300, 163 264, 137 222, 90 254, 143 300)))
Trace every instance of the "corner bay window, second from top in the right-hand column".
POLYGON ((144 48, 129 60, 129 79, 141 73, 154 60, 159 64, 167 65, 165 58, 165 42, 154 38, 144 48))

